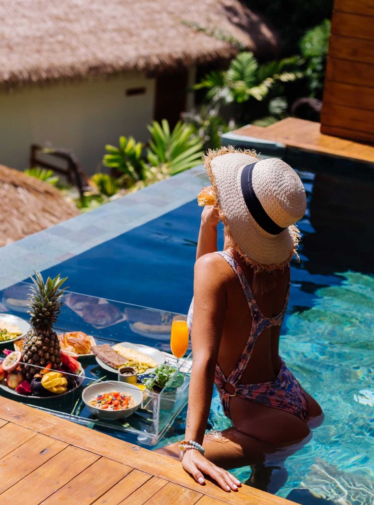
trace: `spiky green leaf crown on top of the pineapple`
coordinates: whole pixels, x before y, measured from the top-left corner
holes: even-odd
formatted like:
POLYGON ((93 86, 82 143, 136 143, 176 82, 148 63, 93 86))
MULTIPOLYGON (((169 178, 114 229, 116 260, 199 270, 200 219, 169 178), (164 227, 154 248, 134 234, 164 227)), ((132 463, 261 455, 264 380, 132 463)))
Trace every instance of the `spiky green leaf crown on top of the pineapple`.
POLYGON ((29 310, 30 323, 35 328, 51 328, 53 323, 57 321, 57 316, 60 313, 64 291, 60 289, 61 285, 67 280, 67 277, 61 279, 57 275, 54 279, 48 277, 46 282, 40 272, 34 272, 35 279, 31 277, 34 286, 30 287, 29 310))

